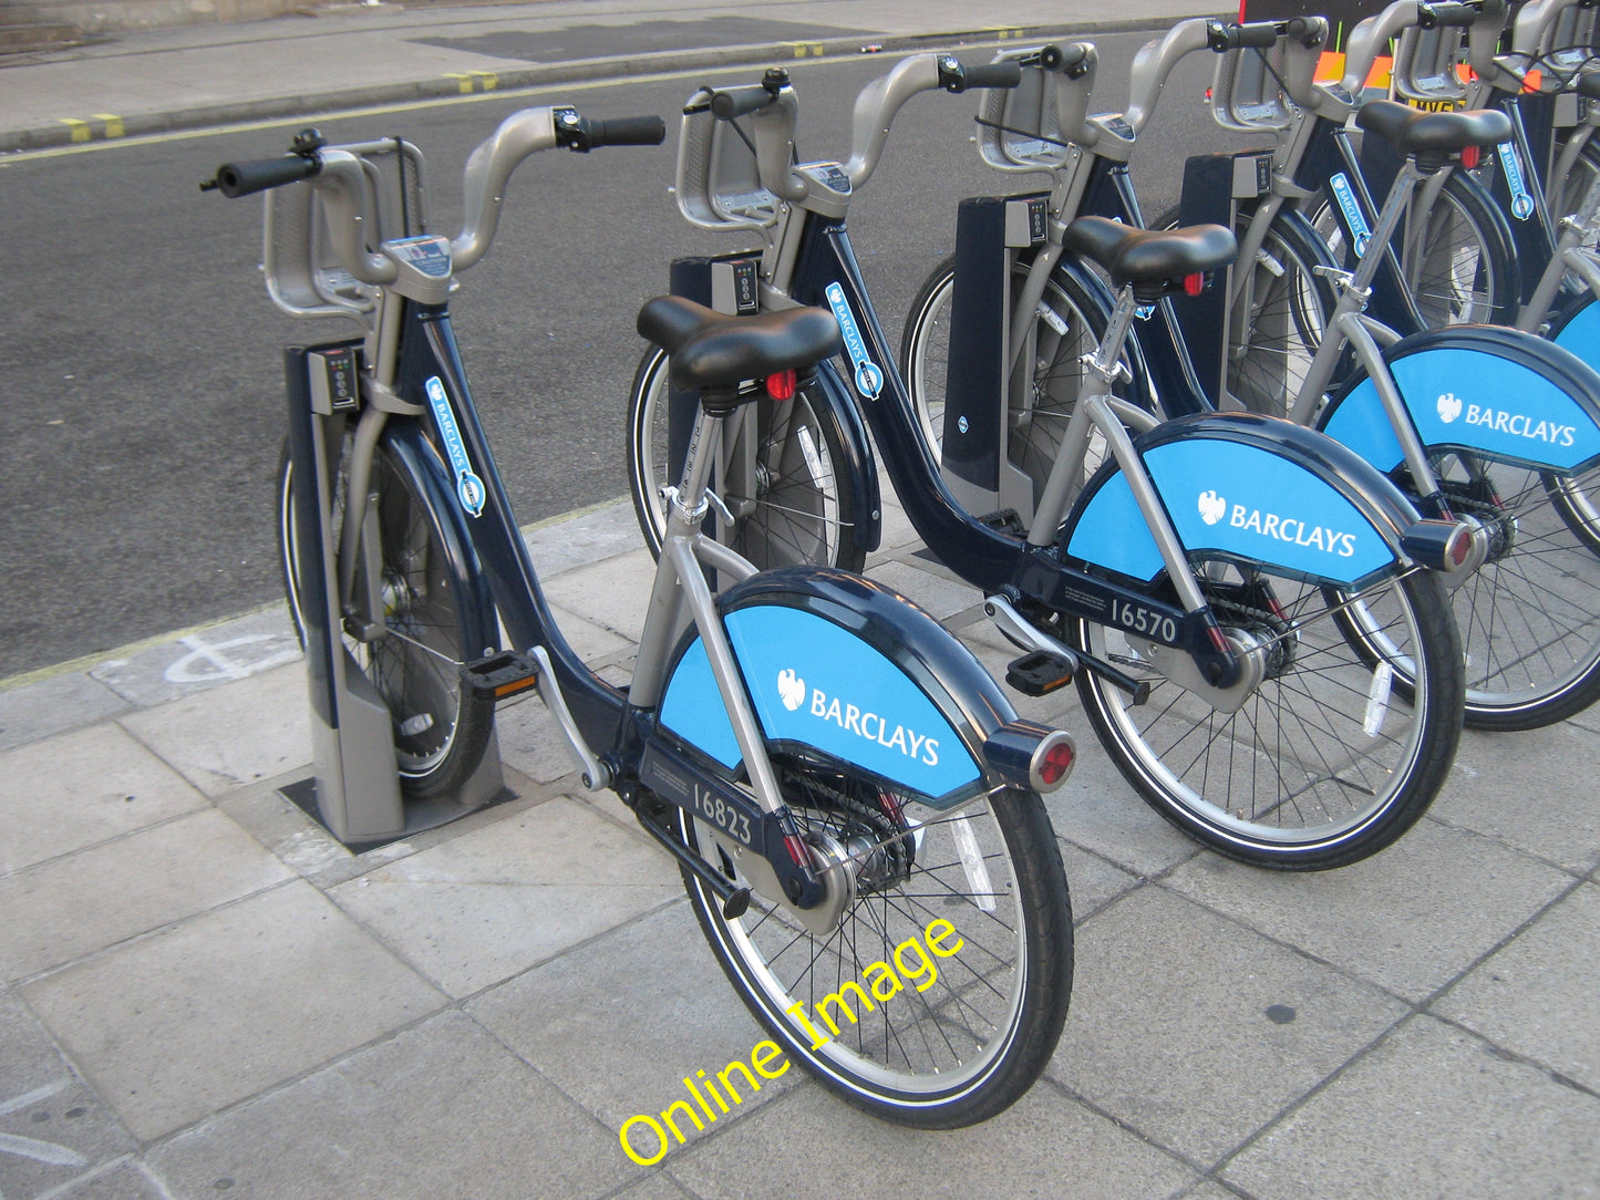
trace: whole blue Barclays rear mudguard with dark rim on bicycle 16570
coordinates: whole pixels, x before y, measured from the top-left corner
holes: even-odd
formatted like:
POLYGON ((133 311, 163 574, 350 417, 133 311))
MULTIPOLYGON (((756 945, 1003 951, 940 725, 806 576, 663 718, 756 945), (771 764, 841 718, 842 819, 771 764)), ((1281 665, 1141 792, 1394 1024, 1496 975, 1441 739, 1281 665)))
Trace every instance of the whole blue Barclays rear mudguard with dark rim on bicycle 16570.
MULTIPOLYGON (((1190 560, 1222 557, 1350 587, 1405 565, 1416 509, 1331 438, 1290 421, 1214 413, 1134 438, 1190 560)), ((1109 462, 1062 526, 1069 558, 1142 582, 1163 570, 1128 480, 1109 462)))

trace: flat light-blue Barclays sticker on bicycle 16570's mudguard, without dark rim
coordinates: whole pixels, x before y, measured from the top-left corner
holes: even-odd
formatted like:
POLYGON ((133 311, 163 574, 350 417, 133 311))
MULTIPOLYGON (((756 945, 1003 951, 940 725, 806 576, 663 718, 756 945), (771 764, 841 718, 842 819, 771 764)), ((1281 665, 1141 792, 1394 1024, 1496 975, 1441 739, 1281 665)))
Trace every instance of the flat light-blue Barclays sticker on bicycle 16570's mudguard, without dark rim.
MULTIPOLYGON (((1394 562, 1384 538, 1338 488, 1261 446, 1184 438, 1146 450, 1144 462, 1190 555, 1222 554, 1334 584, 1394 562)), ((1082 509, 1067 554, 1136 579, 1165 566, 1122 472, 1082 509)))

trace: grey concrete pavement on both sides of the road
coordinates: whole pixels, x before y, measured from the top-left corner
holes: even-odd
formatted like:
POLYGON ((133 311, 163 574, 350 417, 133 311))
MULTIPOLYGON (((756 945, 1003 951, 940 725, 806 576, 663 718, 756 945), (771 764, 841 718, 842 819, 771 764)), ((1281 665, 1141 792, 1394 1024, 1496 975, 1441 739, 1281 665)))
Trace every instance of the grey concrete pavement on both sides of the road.
MULTIPOLYGON (((613 0, 186 29, 0 67, 0 126, 16 149, 568 69, 478 35, 587 53, 624 34, 573 30, 694 26, 624 54, 658 70, 696 40, 766 61, 1168 2, 1192 11, 699 10, 802 30, 760 53, 613 0)), ((626 674, 627 506, 531 542, 574 643, 626 674)), ((891 510, 870 571, 998 667, 978 594, 917 549, 891 510)), ((1030 702, 1082 749, 1050 800, 1078 966, 1045 1078, 930 1136, 789 1077, 642 1168, 619 1125, 758 1037, 675 872, 530 704, 502 714, 510 798, 352 854, 280 792, 310 770, 304 710, 278 608, 0 683, 0 1197, 1600 1195, 1600 715, 1467 734, 1397 846, 1277 877, 1162 822, 1070 691, 1030 702)))

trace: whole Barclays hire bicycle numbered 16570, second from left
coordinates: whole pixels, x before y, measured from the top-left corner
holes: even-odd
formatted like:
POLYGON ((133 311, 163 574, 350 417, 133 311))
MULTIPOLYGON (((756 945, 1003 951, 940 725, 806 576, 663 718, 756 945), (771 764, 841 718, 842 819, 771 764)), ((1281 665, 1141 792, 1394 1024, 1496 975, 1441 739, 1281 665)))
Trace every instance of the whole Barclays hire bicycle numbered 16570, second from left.
MULTIPOLYGON (((1014 83, 1021 67, 995 64, 982 78, 1014 83)), ((760 250, 682 259, 674 290, 734 307, 832 307, 846 349, 819 371, 818 403, 843 432, 846 459, 866 464, 816 480, 837 488, 837 510, 851 496, 856 526, 840 539, 875 544, 877 530, 862 523, 877 504, 875 445, 923 542, 982 589, 986 613, 1024 651, 1006 682, 1045 694, 1075 680, 1101 742, 1163 818, 1258 866, 1326 869, 1376 853, 1427 806, 1458 736, 1459 650, 1438 574, 1419 563, 1454 566, 1466 528, 1418 522, 1392 485, 1310 430, 1240 416, 1155 427, 1115 394, 1117 363, 1133 346, 1126 320, 1232 259, 1232 237, 1218 227, 1138 242, 1126 258, 1120 243, 1094 242, 1114 270, 1144 262, 1115 298, 1078 259, 1064 259, 1070 286, 1104 301, 1107 338, 1086 344, 1098 363, 1085 371, 1093 403, 1074 413, 1070 454, 1056 456, 1027 536, 1014 514, 974 515, 990 507, 974 507, 976 485, 955 490, 941 477, 845 229, 901 106, 971 82, 954 58, 907 58, 858 98, 850 157, 803 163, 790 158, 787 72, 696 91, 678 142, 678 205, 696 224, 758 238, 760 250), (1133 442, 1123 422, 1149 432, 1133 442), (1270 490, 1251 499, 1266 480, 1270 490), (1294 557, 1259 538, 1259 512, 1288 498, 1325 514, 1315 539, 1326 546, 1334 525, 1360 530, 1371 557, 1354 570, 1338 554, 1317 562, 1304 546, 1294 557), (1229 502, 1242 506, 1238 525, 1229 502), (1395 699, 1397 664, 1416 680, 1414 704, 1395 699)), ((651 493, 667 475, 675 405, 651 358, 659 352, 638 371, 629 429, 632 461, 656 466, 630 482, 645 534, 659 541, 651 493)), ((994 429, 981 416, 958 427, 946 413, 946 467, 973 458, 971 442, 957 445, 963 437, 992 440, 994 429)), ((757 466, 720 462, 722 488, 755 496, 757 466)), ((738 514, 723 512, 720 536, 739 538, 736 526, 738 514)))

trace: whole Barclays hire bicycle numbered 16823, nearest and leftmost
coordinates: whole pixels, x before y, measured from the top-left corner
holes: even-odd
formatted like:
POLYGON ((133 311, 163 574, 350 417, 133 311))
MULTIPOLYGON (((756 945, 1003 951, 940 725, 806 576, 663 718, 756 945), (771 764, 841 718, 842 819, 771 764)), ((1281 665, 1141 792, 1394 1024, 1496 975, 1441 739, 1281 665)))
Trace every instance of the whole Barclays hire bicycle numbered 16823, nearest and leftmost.
POLYGON ((627 688, 557 627, 472 403, 448 301, 488 251, 512 170, 557 146, 662 136, 654 117, 517 112, 467 162, 454 238, 421 232, 421 155, 398 139, 307 131, 283 158, 218 171, 226 195, 269 192, 274 301, 365 330, 286 355, 280 538, 317 650, 312 704, 338 730, 371 698, 424 794, 472 770, 496 704, 538 696, 582 786, 616 792, 675 859, 722 970, 794 1061, 888 1120, 984 1120, 1037 1078, 1066 1018, 1070 904, 1038 794, 1066 779, 1072 741, 1018 720, 978 661, 885 587, 758 573, 699 528, 730 414, 811 390, 834 318, 731 320, 675 299, 640 312, 698 416, 627 688), (702 565, 733 581, 722 595, 702 565), (912 936, 942 939, 938 979, 885 998, 874 968, 912 936), (837 1035, 810 1032, 818 1018, 837 1035))

